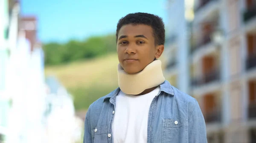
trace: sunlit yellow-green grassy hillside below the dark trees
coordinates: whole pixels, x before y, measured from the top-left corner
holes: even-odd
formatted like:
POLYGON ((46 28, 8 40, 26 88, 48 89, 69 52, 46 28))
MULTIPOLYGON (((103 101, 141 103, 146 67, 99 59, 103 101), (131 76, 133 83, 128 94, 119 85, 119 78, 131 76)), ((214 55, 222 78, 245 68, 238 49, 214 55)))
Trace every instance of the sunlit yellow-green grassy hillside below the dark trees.
POLYGON ((116 53, 111 53, 96 59, 49 66, 45 74, 56 76, 73 95, 76 110, 82 110, 118 87, 118 63, 116 53))

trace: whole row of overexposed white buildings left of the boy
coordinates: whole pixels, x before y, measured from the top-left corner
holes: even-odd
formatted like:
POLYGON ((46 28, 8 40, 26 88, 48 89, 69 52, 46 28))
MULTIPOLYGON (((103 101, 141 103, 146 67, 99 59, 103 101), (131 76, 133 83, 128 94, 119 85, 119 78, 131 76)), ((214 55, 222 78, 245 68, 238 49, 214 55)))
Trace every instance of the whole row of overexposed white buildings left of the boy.
POLYGON ((64 87, 47 93, 37 17, 20 16, 16 0, 0 0, 0 20, 0 143, 79 140, 81 121, 71 96, 64 87))

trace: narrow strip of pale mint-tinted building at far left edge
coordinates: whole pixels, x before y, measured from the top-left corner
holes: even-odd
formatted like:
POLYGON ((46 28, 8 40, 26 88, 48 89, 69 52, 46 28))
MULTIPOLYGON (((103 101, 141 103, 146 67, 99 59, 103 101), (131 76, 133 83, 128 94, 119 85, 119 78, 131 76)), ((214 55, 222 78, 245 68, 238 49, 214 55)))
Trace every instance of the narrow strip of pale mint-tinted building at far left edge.
MULTIPOLYGON (((6 140, 9 129, 9 111, 12 105, 8 94, 8 65, 10 57, 10 21, 16 15, 16 2, 14 0, 0 0, 0 143, 6 140)), ((13 27, 13 25, 12 25, 13 27)))

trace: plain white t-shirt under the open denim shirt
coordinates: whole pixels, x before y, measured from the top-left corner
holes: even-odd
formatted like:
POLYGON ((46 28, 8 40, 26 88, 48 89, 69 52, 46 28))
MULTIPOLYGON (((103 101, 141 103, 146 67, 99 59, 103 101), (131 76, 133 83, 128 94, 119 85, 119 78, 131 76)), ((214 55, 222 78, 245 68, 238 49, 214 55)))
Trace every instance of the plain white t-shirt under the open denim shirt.
POLYGON ((145 95, 127 95, 120 91, 112 125, 113 143, 147 143, 148 112, 160 87, 145 95))

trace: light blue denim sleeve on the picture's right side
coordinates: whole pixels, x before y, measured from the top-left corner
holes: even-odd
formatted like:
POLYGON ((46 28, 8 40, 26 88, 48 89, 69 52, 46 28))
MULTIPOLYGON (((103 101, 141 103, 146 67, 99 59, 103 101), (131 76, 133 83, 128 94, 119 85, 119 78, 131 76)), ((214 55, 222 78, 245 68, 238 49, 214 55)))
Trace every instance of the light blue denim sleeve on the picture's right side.
POLYGON ((196 100, 189 110, 189 143, 207 143, 204 116, 196 100))

